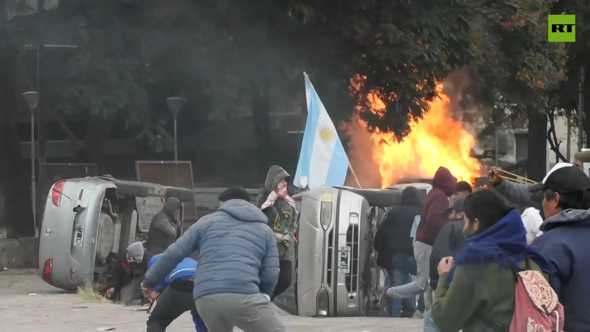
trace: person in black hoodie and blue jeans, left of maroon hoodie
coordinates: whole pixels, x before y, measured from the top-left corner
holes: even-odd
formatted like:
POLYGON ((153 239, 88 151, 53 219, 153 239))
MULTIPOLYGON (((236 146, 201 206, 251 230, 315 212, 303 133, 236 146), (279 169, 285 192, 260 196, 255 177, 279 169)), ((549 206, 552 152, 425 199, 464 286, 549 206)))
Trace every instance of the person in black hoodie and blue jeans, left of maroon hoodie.
MULTIPOLYGON (((416 274, 416 260, 410 231, 419 218, 422 202, 418 189, 407 187, 402 191, 400 206, 387 213, 375 235, 374 247, 379 256, 391 260, 389 280, 393 287, 408 284, 410 275, 416 274)), ((414 298, 394 299, 389 305, 390 317, 412 317, 416 311, 414 298)))

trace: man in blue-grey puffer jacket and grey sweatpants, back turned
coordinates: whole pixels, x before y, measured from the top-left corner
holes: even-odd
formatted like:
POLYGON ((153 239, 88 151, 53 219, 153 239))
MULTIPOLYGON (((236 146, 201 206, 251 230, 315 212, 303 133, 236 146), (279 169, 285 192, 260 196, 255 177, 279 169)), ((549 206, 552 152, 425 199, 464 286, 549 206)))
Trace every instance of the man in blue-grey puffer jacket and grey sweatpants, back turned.
POLYGON ((209 331, 286 332, 270 305, 278 281, 278 250, 264 213, 243 188, 219 196, 217 212, 192 225, 148 270, 142 291, 153 291, 175 266, 199 250, 195 272, 196 310, 209 331))

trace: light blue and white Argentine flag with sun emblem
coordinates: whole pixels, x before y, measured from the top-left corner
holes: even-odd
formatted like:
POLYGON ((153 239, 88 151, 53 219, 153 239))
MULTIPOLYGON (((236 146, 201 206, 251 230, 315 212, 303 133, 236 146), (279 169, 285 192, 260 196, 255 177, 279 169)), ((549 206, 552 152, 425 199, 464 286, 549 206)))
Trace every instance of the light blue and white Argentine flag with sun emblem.
POLYGON ((348 156, 334 123, 307 76, 305 96, 307 122, 293 183, 299 186, 300 178, 307 177, 309 188, 343 185, 348 171, 348 156))

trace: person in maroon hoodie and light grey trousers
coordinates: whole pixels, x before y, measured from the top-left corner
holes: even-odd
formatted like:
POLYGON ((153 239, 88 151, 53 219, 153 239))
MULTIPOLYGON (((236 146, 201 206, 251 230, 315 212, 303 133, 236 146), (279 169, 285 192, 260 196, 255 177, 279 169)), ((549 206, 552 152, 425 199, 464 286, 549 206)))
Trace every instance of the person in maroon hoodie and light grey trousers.
MULTIPOLYGON (((432 189, 422 202, 420 223, 416 231, 414 258, 417 265, 417 278, 409 284, 391 287, 385 291, 385 298, 412 298, 427 291, 430 278, 430 254, 438 232, 448 222, 445 209, 449 206, 449 197, 455 193, 457 178, 445 167, 439 167, 432 178, 432 189)), ((430 289, 424 297, 425 309, 432 305, 430 289)))

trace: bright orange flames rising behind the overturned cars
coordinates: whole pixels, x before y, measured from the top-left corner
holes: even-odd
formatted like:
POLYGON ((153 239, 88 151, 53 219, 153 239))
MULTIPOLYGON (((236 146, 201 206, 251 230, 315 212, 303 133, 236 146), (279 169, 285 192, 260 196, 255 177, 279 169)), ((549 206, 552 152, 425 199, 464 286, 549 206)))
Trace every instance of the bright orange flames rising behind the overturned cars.
MULTIPOLYGON (((437 89, 441 92, 442 84, 437 89)), ((374 93, 367 95, 373 112, 382 112, 385 104, 374 93)), ((463 127, 449 112, 450 100, 440 98, 430 103, 424 118, 412 121, 411 133, 397 142, 392 134, 371 134, 372 158, 381 174, 383 188, 395 184, 402 177, 432 178, 438 167, 444 166, 458 180, 473 183, 480 176, 481 165, 471 157, 475 144, 463 127)), ((366 127, 366 123, 361 123, 366 127)))

